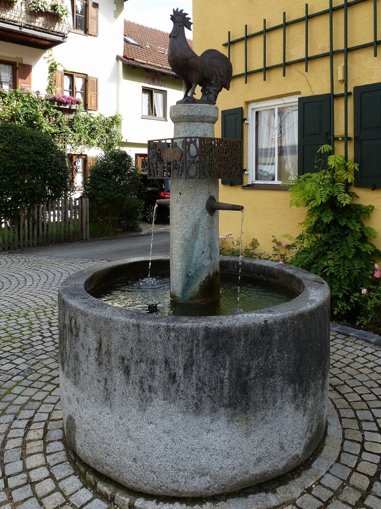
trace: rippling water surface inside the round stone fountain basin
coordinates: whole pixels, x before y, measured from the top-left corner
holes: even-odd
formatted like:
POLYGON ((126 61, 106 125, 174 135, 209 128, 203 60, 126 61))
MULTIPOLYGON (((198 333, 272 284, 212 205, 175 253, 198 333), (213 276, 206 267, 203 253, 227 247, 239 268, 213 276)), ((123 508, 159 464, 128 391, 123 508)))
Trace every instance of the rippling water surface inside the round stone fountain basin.
POLYGON ((174 316, 238 315, 288 302, 297 296, 293 290, 274 282, 241 276, 238 300, 236 274, 220 274, 220 299, 213 304, 190 305, 171 300, 170 278, 161 276, 132 279, 91 294, 114 306, 174 316))

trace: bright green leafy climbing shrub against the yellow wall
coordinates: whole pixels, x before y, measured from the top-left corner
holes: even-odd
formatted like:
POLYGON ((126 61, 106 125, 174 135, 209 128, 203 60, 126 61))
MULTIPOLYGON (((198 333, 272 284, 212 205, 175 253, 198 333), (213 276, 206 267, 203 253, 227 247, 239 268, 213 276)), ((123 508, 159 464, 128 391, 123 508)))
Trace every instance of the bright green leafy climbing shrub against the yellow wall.
MULTIPOLYGON (((321 152, 332 147, 321 147, 321 152)), ((357 194, 346 191, 354 177, 350 171, 357 168, 352 160, 330 155, 331 171, 305 174, 290 181, 290 205, 305 207, 306 217, 300 225, 303 232, 290 248, 295 249, 291 264, 321 276, 331 290, 334 318, 350 319, 356 316, 352 296, 369 284, 369 273, 381 256, 371 240, 377 235, 363 220, 373 212, 372 205, 354 203, 357 194)))

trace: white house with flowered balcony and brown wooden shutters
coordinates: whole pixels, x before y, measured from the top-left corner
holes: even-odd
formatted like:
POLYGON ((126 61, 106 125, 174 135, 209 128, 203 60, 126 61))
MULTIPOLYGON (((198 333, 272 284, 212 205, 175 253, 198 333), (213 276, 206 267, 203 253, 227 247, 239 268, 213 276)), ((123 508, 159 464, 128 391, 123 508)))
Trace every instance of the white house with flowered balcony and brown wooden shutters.
MULTIPOLYGON (((119 64, 123 51, 123 0, 63 0, 69 15, 31 10, 28 0, 12 5, 0 0, 0 88, 23 86, 41 95, 48 84, 52 49, 59 64, 54 72, 54 91, 82 99, 82 108, 95 115, 114 115, 118 110, 119 64)), ((70 153, 77 160, 75 183, 81 187, 96 149, 70 153)))

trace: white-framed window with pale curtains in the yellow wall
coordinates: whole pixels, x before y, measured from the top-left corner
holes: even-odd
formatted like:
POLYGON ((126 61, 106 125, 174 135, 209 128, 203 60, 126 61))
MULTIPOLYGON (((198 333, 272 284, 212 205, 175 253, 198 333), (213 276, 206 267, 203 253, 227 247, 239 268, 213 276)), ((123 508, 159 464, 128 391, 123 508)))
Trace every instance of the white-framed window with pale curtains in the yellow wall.
POLYGON ((298 175, 298 103, 295 97, 249 104, 252 182, 277 183, 298 175))

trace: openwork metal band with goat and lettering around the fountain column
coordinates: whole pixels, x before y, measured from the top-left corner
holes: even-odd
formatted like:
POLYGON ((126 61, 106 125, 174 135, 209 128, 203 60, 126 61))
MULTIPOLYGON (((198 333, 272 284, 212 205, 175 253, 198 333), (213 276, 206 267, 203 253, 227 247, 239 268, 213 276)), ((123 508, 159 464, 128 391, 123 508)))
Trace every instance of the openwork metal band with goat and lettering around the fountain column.
POLYGON ((242 175, 242 140, 185 137, 149 140, 149 179, 233 179, 242 175))

